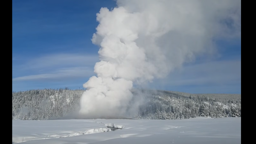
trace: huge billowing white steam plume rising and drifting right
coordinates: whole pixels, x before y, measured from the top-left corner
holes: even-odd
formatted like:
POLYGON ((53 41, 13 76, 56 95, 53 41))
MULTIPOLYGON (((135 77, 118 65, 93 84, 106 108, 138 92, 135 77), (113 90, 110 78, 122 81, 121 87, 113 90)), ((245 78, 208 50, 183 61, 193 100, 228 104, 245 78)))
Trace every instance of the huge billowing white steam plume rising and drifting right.
POLYGON ((214 40, 241 37, 240 0, 117 0, 101 8, 93 34, 99 58, 83 87, 79 113, 120 116, 133 82, 163 78, 195 56, 213 54, 214 40))

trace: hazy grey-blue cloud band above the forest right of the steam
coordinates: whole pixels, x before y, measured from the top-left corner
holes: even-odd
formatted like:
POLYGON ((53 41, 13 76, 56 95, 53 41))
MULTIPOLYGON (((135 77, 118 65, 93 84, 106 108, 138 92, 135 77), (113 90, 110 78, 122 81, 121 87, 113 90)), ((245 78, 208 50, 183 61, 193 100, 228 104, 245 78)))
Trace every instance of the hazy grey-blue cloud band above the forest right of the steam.
POLYGON ((176 86, 241 85, 241 60, 187 65, 171 73, 169 79, 158 79, 155 83, 170 88, 176 86))

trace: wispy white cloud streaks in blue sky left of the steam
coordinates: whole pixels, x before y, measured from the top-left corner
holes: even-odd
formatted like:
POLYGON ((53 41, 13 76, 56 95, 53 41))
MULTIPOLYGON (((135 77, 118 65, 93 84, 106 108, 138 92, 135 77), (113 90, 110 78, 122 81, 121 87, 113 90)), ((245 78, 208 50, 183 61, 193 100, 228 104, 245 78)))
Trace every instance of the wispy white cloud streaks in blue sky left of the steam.
POLYGON ((51 54, 13 66, 13 81, 60 80, 92 76, 98 56, 51 54), (23 74, 19 74, 22 71, 23 74), (15 73, 14 73, 15 72, 15 73))

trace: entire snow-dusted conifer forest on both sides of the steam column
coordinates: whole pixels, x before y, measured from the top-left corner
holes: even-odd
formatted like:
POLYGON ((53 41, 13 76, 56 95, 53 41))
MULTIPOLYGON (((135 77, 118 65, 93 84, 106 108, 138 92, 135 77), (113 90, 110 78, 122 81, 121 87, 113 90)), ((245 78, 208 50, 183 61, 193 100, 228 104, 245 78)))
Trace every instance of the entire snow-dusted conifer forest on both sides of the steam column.
MULTIPOLYGON (((13 92, 12 119, 48 120, 67 116, 80 109, 79 101, 83 92, 84 90, 68 88, 13 92)), ((198 116, 241 116, 241 94, 225 94, 222 97, 217 94, 214 98, 214 94, 187 95, 161 90, 132 90, 132 93, 132 101, 141 101, 137 113, 130 115, 133 118, 189 119, 198 116)))

